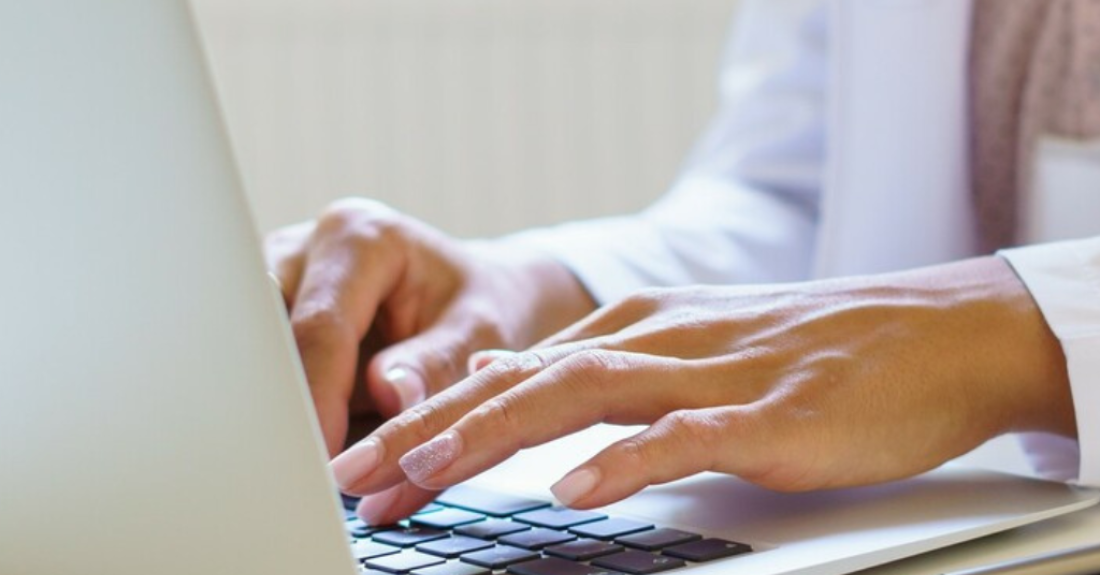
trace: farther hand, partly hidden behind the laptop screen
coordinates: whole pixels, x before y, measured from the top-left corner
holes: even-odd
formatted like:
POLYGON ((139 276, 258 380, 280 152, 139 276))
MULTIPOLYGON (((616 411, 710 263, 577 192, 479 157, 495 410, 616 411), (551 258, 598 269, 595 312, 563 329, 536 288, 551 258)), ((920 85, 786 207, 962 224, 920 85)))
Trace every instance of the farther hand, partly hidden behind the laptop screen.
POLYGON ((351 413, 393 417, 465 377, 473 352, 526 349, 595 308, 548 256, 365 199, 272 233, 265 252, 332 456, 351 413))

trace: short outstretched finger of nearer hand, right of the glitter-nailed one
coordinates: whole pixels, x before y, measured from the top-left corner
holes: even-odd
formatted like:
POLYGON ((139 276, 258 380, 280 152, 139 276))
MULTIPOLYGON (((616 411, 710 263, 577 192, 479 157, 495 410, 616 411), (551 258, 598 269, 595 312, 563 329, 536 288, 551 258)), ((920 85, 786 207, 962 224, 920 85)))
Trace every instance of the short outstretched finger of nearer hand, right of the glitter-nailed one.
POLYGON ((565 506, 591 509, 704 471, 751 476, 759 468, 761 450, 751 440, 750 411, 740 407, 673 411, 613 443, 550 490, 565 506))

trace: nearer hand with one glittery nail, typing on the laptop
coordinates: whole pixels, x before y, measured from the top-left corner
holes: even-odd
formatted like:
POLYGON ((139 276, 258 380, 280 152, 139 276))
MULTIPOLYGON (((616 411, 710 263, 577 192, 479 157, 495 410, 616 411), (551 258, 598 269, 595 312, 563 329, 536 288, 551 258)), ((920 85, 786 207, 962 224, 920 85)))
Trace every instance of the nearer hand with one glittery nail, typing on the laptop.
POLYGON ((360 512, 383 523, 430 496, 406 478, 444 489, 598 422, 648 428, 558 482, 565 505, 703 471, 784 491, 873 484, 1009 431, 1076 434, 1057 339, 1008 264, 987 257, 646 291, 502 356, 332 465, 344 491, 377 494, 360 512))

